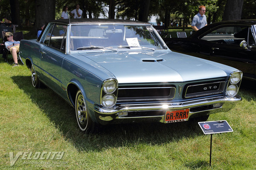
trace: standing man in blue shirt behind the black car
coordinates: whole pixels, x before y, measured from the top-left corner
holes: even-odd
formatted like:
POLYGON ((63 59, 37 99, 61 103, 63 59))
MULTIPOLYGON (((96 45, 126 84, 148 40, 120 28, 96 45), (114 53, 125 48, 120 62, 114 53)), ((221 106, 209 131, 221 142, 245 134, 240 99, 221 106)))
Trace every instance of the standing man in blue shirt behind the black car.
POLYGON ((193 17, 191 27, 194 31, 207 26, 207 20, 205 16, 205 6, 199 6, 198 14, 193 17))

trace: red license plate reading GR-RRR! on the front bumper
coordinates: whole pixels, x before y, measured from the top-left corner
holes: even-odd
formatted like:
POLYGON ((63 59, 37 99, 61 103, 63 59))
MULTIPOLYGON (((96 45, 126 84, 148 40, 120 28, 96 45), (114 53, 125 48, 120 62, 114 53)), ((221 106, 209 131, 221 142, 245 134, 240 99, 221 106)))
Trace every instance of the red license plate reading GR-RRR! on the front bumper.
POLYGON ((180 111, 166 111, 165 123, 187 121, 189 117, 189 109, 180 111))

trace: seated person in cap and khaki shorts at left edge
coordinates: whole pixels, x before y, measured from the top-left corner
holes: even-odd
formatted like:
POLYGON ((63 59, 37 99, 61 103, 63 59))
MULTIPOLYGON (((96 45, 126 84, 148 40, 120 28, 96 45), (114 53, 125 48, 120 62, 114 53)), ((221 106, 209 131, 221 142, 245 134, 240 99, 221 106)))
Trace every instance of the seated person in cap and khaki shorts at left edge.
POLYGON ((7 41, 4 43, 4 45, 6 45, 12 54, 12 58, 14 60, 13 67, 18 66, 17 53, 20 49, 20 41, 13 40, 13 34, 11 32, 6 32, 5 37, 7 41))

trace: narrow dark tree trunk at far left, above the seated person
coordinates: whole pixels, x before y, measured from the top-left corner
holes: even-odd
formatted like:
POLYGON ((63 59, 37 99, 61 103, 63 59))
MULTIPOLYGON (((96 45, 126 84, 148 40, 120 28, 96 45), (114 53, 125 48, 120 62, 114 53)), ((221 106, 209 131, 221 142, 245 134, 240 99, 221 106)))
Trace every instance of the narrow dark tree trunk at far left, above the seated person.
POLYGON ((12 23, 20 25, 20 3, 19 0, 10 0, 12 23))

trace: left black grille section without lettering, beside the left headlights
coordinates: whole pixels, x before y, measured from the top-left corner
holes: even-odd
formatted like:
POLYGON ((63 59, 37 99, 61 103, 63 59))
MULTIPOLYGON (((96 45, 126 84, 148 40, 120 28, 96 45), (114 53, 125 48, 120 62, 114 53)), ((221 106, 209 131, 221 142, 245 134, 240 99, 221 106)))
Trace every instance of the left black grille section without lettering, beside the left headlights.
POLYGON ((119 85, 117 101, 173 99, 173 85, 119 85))

